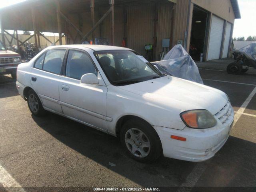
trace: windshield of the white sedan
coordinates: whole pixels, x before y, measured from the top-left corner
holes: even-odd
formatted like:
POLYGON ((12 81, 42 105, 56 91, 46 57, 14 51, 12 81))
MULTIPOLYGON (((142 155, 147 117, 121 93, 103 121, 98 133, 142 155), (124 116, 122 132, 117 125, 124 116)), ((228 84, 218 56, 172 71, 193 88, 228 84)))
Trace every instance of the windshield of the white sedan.
POLYGON ((116 86, 164 76, 142 56, 129 50, 98 51, 94 55, 110 83, 116 86))

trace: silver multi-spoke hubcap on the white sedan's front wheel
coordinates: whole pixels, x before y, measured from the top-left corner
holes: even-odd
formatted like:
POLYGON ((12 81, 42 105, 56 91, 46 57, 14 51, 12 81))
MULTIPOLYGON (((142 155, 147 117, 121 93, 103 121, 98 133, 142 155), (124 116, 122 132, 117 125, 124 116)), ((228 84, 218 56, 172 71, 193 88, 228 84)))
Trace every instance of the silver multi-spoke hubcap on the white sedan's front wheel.
POLYGON ((125 136, 125 144, 128 150, 136 157, 144 158, 150 152, 150 142, 144 132, 139 129, 129 129, 125 136))

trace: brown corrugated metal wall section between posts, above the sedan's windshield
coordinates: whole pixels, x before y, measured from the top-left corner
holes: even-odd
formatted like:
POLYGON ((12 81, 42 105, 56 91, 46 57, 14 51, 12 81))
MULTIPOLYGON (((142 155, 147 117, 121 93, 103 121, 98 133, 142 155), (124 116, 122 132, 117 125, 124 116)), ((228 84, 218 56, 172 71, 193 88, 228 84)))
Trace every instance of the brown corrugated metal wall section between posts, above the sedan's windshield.
POLYGON ((153 44, 154 5, 127 8, 127 47, 145 55, 144 45, 153 44))

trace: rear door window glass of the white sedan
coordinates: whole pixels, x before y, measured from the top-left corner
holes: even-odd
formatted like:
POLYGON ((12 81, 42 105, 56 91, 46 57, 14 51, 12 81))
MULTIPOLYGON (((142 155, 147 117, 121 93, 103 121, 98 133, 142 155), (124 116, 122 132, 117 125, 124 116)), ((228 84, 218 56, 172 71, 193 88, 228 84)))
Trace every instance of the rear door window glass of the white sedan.
POLYGON ((43 70, 60 74, 61 64, 66 50, 49 50, 44 58, 43 70))

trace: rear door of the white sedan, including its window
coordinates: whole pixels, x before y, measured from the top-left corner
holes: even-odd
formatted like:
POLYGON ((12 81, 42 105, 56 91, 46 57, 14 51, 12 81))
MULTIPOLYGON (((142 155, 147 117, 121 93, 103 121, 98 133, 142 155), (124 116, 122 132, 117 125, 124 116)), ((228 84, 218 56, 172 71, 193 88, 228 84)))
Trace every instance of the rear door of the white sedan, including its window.
POLYGON ((65 52, 66 49, 51 49, 44 52, 34 63, 30 79, 32 88, 40 97, 43 106, 59 113, 62 113, 58 103, 59 82, 65 52))

